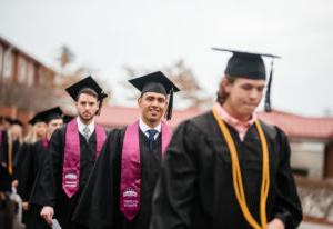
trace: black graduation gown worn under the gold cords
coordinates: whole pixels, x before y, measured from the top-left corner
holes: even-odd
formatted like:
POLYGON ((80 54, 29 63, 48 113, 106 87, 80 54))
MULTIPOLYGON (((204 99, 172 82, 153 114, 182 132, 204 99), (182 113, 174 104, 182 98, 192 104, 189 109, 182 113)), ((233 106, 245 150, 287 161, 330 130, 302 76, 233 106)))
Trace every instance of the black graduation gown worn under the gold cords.
MULTIPOLYGON (((280 218, 286 229, 296 228, 302 209, 290 167, 290 146, 276 127, 261 122, 268 140, 270 191, 268 222, 280 218)), ((249 210, 259 220, 262 150, 255 126, 235 142, 249 210)), ((181 123, 165 153, 153 197, 151 229, 251 228, 236 201, 230 152, 212 112, 181 123)))

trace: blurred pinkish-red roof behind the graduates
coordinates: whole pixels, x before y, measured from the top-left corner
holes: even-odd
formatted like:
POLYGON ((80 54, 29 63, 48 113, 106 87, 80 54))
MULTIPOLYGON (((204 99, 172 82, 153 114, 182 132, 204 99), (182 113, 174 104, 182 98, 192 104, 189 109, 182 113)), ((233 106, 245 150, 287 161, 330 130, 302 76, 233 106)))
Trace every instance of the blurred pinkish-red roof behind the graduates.
MULTIPOLYGON (((168 125, 174 129, 180 122, 202 112, 198 109, 174 110, 168 125)), ((104 106, 97 122, 107 128, 124 127, 135 121, 139 114, 138 108, 104 106)), ((276 110, 269 113, 259 112, 258 116, 264 122, 280 127, 292 138, 333 139, 333 118, 310 118, 276 110)))

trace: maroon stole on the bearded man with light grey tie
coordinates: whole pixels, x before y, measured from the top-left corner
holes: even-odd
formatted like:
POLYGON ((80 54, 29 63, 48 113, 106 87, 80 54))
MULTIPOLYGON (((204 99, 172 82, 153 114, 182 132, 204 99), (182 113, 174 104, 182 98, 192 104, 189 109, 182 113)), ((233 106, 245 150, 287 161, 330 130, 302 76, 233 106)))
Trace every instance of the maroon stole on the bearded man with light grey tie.
MULTIPOLYGON (((98 158, 102 146, 107 139, 104 129, 98 125, 94 126, 97 136, 95 157, 98 158)), ((80 181, 80 139, 77 119, 67 125, 65 145, 62 169, 62 189, 71 198, 79 190, 80 181)))

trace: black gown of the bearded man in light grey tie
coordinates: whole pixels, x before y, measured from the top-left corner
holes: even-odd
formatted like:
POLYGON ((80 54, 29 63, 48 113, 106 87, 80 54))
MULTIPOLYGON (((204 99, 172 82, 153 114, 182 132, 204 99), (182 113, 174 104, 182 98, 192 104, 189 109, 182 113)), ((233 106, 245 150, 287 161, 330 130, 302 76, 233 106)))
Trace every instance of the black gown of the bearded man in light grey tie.
POLYGON ((80 139, 80 183, 78 192, 68 198, 62 189, 62 166, 65 143, 65 126, 58 129, 50 140, 50 153, 47 156, 38 183, 34 187, 31 202, 38 206, 52 206, 54 217, 62 228, 74 228, 70 219, 78 205, 95 161, 97 137, 95 131, 89 142, 79 133, 80 139))

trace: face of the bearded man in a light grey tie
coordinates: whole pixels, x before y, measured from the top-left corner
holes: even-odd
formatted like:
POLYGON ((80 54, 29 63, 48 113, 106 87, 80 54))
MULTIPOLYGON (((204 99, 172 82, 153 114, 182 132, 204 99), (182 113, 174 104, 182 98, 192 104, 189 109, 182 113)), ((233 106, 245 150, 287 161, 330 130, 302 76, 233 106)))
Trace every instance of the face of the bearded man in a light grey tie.
POLYGON ((81 93, 75 106, 81 120, 83 122, 90 122, 99 109, 99 101, 93 96, 81 93))

